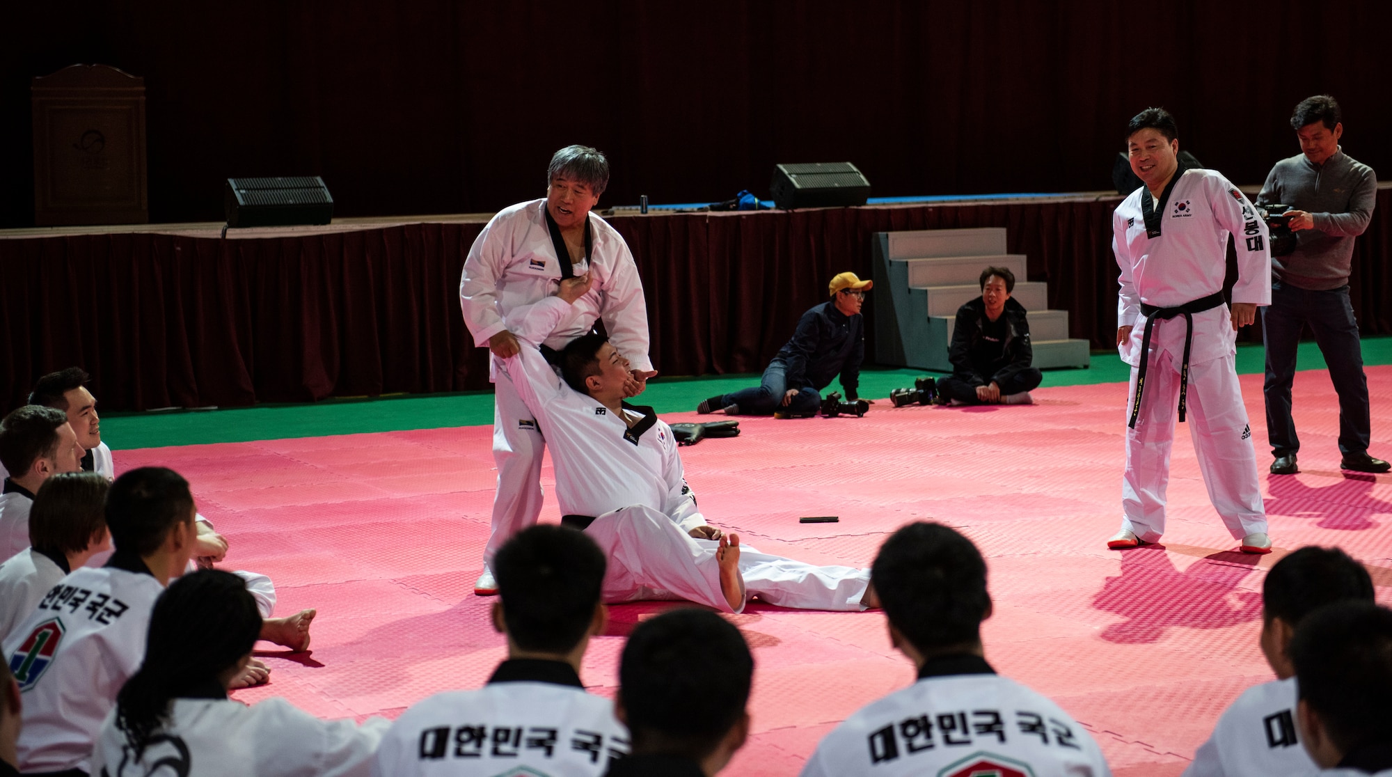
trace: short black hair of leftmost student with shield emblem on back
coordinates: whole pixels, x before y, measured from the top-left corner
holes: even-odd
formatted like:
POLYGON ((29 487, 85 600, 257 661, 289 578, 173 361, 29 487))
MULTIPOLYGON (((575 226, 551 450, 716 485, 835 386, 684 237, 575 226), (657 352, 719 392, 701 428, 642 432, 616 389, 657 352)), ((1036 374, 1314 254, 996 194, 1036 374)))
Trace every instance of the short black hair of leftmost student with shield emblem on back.
POLYGON ((106 494, 111 544, 138 556, 159 550, 174 526, 191 519, 192 511, 188 480, 164 466, 131 469, 106 494))

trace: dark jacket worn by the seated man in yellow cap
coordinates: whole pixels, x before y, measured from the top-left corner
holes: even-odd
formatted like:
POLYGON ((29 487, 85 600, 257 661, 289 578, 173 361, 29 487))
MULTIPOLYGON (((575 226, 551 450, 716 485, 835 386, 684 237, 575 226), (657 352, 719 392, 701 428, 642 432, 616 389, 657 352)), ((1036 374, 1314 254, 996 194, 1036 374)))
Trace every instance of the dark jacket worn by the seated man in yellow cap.
POLYGON ((857 398, 864 358, 864 316, 842 313, 835 299, 803 313, 792 340, 774 356, 784 362, 789 388, 812 386, 821 391, 841 373, 848 400, 857 398))

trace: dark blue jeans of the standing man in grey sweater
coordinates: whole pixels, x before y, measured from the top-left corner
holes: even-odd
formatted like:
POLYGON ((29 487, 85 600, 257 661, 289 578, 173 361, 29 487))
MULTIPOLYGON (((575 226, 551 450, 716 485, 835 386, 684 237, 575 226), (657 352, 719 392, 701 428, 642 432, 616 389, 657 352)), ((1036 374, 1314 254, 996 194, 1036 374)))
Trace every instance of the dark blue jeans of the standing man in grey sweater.
POLYGON ((1310 291, 1272 283, 1271 305, 1261 309, 1261 324, 1267 345, 1267 383, 1263 391, 1267 395, 1271 454, 1282 457, 1300 450, 1290 418, 1290 383, 1296 376, 1296 348, 1304 324, 1310 324, 1314 333, 1339 395, 1339 453, 1368 450, 1368 379, 1363 375, 1363 345, 1359 322, 1349 304, 1349 287, 1310 291))

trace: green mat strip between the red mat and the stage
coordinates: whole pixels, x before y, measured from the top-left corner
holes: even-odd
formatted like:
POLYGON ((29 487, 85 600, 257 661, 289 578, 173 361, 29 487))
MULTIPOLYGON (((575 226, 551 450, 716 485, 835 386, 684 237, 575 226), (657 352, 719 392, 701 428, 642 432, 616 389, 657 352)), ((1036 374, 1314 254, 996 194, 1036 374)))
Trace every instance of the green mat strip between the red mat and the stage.
MULTIPOLYGON (((1264 358, 1261 345, 1239 345, 1237 372, 1263 372, 1264 358)), ((1366 338, 1363 361, 1367 365, 1392 363, 1392 337, 1366 338)), ((1299 363, 1302 369, 1325 369, 1324 356, 1314 343, 1300 344, 1299 363)), ((1119 383, 1128 379, 1128 370, 1115 351, 1098 351, 1093 354, 1093 366, 1089 369, 1045 370, 1044 386, 1119 383)), ((913 379, 920 375, 933 373, 917 369, 866 369, 860 373, 860 395, 888 397, 892 388, 912 386, 913 379)), ((642 400, 657 412, 682 412, 696 409, 696 404, 707 397, 757 382, 757 375, 660 377, 649 384, 642 400)), ((125 450, 486 423, 493 423, 493 393, 472 391, 219 411, 111 412, 103 415, 102 439, 113 450, 125 450)))

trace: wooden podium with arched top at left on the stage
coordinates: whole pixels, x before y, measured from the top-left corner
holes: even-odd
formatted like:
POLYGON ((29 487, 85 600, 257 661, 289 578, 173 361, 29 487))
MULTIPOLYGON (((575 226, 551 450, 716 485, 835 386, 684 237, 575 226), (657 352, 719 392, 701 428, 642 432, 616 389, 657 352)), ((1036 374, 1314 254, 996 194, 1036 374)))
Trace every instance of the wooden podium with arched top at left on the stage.
POLYGON ((33 223, 148 224, 145 79, 77 64, 32 91, 33 223))

